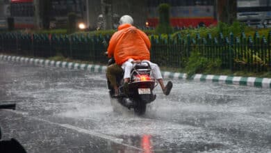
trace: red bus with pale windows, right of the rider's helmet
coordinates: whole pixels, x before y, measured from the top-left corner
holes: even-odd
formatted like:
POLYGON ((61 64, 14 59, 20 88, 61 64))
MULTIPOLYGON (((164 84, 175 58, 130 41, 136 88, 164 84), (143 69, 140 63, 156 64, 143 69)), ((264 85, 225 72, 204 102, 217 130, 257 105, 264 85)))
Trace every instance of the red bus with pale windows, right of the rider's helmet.
POLYGON ((217 24, 214 0, 148 0, 148 26, 158 24, 158 6, 170 4, 170 23, 172 26, 210 26, 217 24))

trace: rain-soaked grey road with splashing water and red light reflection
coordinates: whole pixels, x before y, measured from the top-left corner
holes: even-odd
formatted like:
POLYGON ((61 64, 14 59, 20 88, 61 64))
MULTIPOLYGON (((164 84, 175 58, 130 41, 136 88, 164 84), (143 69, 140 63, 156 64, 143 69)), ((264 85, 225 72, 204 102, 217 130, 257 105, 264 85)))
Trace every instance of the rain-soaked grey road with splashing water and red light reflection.
POLYGON ((271 90, 173 81, 138 117, 113 111, 104 74, 0 61, 3 139, 29 152, 271 152, 271 90))

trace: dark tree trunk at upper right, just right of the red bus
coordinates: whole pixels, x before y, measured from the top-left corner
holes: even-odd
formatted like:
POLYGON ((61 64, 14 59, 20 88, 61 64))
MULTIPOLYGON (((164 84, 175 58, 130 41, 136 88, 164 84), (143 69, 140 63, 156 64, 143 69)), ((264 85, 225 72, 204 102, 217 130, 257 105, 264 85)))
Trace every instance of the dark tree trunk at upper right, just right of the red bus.
POLYGON ((237 0, 215 0, 217 20, 232 24, 236 20, 237 0))

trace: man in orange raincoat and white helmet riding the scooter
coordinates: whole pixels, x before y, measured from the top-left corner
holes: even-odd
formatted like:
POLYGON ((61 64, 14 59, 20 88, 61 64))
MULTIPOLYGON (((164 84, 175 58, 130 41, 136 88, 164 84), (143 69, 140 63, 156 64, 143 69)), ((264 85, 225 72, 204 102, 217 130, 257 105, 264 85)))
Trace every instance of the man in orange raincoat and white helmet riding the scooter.
POLYGON ((115 58, 115 64, 108 66, 106 76, 110 81, 111 86, 115 90, 115 97, 120 92, 117 86, 116 76, 124 71, 124 93, 127 91, 130 80, 130 72, 133 64, 147 61, 154 72, 154 78, 160 84, 165 95, 170 94, 172 82, 168 81, 165 86, 160 68, 155 63, 151 63, 149 49, 151 42, 148 36, 132 26, 133 18, 129 15, 124 15, 120 18, 120 26, 118 31, 113 34, 110 39, 107 49, 108 58, 115 58))

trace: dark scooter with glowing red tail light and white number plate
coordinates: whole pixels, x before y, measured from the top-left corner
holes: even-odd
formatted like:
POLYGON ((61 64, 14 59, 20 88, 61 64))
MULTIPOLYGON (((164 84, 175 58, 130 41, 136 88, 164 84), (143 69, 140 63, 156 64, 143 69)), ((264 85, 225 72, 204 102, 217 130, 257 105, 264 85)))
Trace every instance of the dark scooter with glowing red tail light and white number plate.
MULTIPOLYGON (((108 61, 108 65, 115 63, 111 58, 108 61)), ((128 83, 128 90, 124 94, 123 86, 123 73, 117 76, 117 83, 119 85, 120 95, 114 97, 115 90, 107 81, 109 94, 111 99, 117 99, 117 102, 122 106, 131 109, 137 115, 144 115, 147 104, 154 102, 156 95, 153 90, 158 85, 157 81, 153 77, 151 66, 147 62, 141 62, 133 65, 131 70, 131 79, 128 83)))

